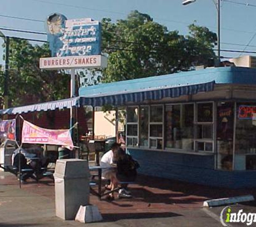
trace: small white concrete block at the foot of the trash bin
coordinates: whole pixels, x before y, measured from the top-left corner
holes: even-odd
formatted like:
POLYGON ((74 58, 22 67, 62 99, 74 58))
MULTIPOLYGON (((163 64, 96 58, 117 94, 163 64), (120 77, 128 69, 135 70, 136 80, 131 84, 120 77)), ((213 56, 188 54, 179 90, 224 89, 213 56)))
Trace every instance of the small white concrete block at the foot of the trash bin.
POLYGON ((77 216, 75 216, 75 221, 81 223, 100 222, 102 221, 102 216, 98 207, 95 205, 81 205, 77 216))

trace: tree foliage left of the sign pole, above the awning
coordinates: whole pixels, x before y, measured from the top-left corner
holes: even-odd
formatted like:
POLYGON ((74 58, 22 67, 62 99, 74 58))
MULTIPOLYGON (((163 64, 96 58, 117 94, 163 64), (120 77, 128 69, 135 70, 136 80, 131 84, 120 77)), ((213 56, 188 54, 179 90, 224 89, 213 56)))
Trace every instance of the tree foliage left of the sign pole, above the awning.
POLYGON ((11 39, 9 55, 9 98, 12 106, 68 97, 70 77, 67 74, 39 69, 39 59, 50 56, 48 45, 33 46, 26 40, 11 39))

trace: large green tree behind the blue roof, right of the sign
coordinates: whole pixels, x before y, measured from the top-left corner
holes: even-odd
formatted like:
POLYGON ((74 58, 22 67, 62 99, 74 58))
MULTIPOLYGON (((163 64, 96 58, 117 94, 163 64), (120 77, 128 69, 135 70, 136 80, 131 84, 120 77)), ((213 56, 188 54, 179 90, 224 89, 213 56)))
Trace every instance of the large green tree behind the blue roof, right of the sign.
POLYGON ((206 27, 192 24, 189 35, 183 36, 138 11, 116 24, 105 18, 102 27, 103 52, 108 56, 105 82, 189 70, 215 58, 217 36, 206 27))

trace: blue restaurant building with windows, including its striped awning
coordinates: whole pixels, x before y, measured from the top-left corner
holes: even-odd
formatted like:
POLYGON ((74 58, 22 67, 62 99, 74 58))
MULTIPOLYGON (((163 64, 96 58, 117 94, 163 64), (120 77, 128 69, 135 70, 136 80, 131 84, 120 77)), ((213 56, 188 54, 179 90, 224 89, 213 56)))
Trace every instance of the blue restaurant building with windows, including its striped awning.
POLYGON ((0 113, 126 107, 127 152, 141 174, 256 187, 256 69, 208 68, 99 84, 80 88, 79 95, 0 113))

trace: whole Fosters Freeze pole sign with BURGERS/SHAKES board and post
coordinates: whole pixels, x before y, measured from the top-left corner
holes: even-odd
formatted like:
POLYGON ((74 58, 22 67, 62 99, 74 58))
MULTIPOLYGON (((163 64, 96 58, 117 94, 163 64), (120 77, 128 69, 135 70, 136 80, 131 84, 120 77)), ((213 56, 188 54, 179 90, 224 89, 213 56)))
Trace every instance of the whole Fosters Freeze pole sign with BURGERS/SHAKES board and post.
MULTIPOLYGON (((75 96, 75 69, 107 67, 107 58, 101 55, 101 24, 97 20, 68 20, 64 15, 53 13, 47 18, 47 40, 52 58, 40 58, 40 68, 71 69, 71 98, 75 96)), ((72 108, 70 124, 72 127, 72 108)))

